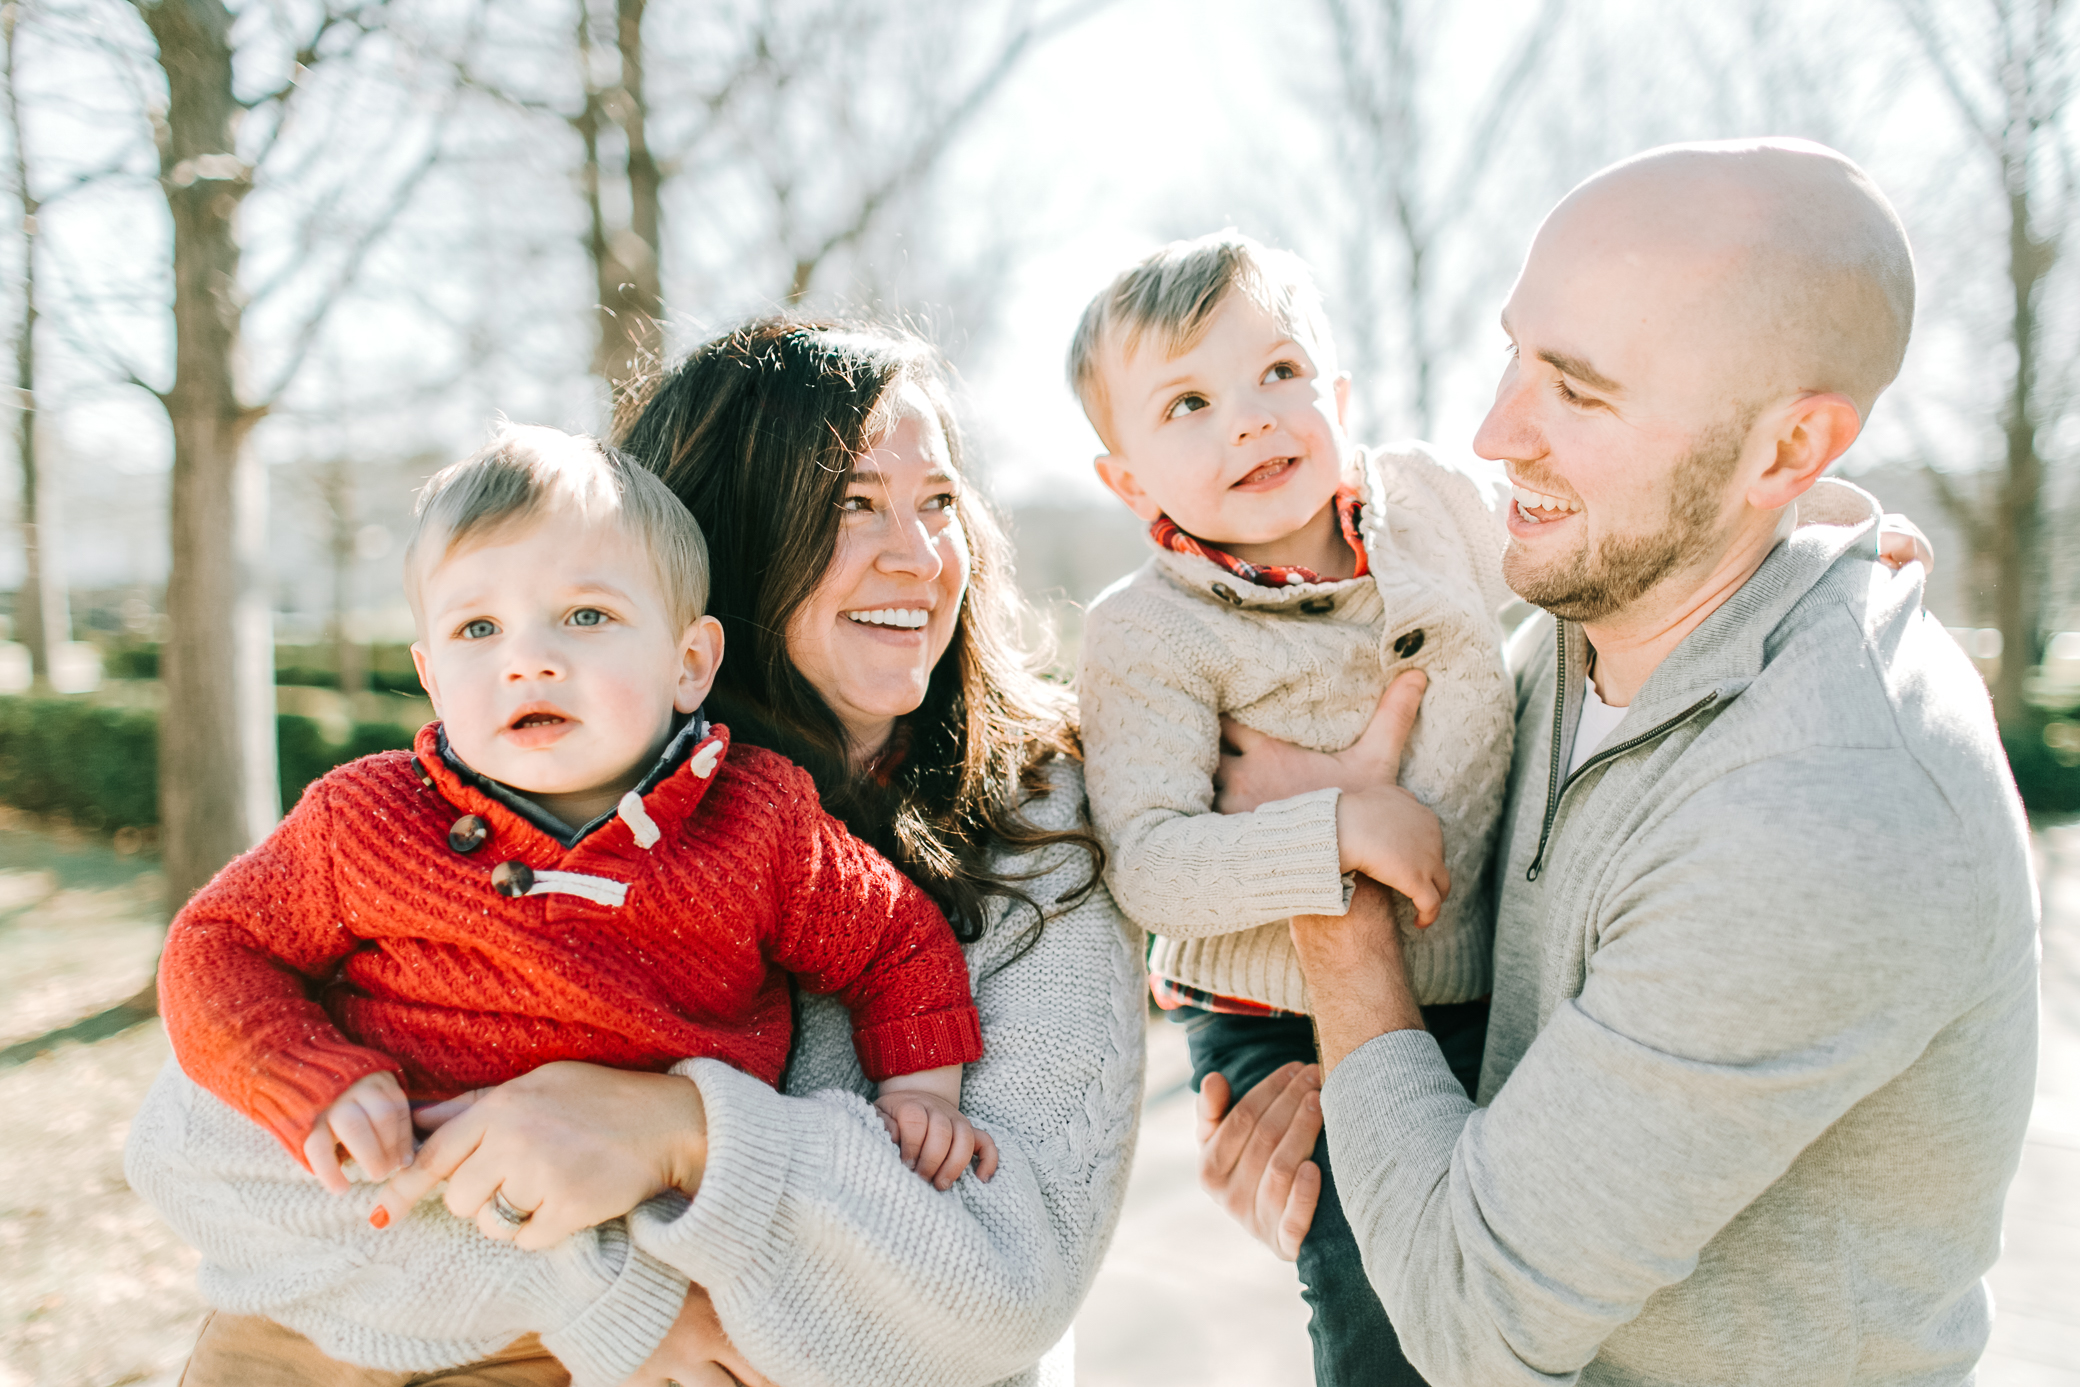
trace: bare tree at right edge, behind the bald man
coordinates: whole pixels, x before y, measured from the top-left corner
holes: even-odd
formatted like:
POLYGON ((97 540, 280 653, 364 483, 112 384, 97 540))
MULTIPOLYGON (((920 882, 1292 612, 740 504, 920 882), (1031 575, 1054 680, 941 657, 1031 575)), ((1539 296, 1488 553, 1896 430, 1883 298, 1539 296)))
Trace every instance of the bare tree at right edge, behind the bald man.
POLYGON ((2076 185, 2074 64, 2080 4, 1986 0, 1966 10, 1934 0, 1895 0, 1920 52, 1961 121, 1978 164, 1964 177, 1999 200, 2007 304, 2003 345, 2013 354, 1997 422, 1999 464, 1984 495, 1959 487, 1932 460, 1928 478, 1993 576, 2001 665, 1995 713, 2020 726, 2024 678, 2043 657, 2049 574, 2045 439, 2072 408, 2080 351, 2047 333, 2045 285, 2080 210, 2076 185))

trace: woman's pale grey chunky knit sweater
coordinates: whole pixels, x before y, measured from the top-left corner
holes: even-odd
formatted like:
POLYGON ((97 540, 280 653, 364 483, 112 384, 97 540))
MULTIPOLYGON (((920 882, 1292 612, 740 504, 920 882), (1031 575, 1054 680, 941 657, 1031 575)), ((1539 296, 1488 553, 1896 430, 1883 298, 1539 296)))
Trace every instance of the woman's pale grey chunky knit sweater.
MULTIPOLYGON (((1069 828, 1063 765, 1034 821, 1069 828)), ((1052 848, 1042 902, 1088 871, 1052 848)), ((1021 859, 1009 859, 1017 869, 1021 859)), ((420 1204, 368 1227, 370 1185, 331 1196, 173 1065, 131 1127, 127 1173, 202 1252, 202 1291, 324 1352, 397 1372, 470 1362, 539 1331, 578 1387, 612 1387, 678 1312, 688 1277, 747 1358, 788 1387, 1042 1387, 1071 1381, 1069 1323, 1111 1241, 1142 1098, 1140 932, 1102 888, 1050 913, 998 909, 967 948, 988 1054, 961 1106, 1003 1150, 990 1183, 934 1192, 867 1106, 849 1021, 803 998, 788 1094, 716 1061, 682 1067, 709 1115, 699 1196, 516 1252, 420 1204), (1057 1352, 1048 1352, 1057 1345, 1057 1352)))

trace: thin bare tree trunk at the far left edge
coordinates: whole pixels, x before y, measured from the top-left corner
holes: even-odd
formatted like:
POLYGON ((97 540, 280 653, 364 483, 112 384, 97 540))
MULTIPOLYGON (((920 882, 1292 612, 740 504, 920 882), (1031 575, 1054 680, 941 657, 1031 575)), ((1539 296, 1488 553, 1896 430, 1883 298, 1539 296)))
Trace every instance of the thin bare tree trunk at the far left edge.
POLYGON ((0 42, 6 48, 6 123, 15 152, 15 191, 21 200, 21 335, 15 339, 15 457, 21 464, 21 591, 15 595, 15 636, 29 647, 37 686, 50 682, 50 653, 73 638, 64 601, 64 574, 54 561, 56 507, 35 451, 35 235, 37 200, 29 189, 29 152, 23 146, 17 94, 15 27, 21 4, 0 6, 0 42))

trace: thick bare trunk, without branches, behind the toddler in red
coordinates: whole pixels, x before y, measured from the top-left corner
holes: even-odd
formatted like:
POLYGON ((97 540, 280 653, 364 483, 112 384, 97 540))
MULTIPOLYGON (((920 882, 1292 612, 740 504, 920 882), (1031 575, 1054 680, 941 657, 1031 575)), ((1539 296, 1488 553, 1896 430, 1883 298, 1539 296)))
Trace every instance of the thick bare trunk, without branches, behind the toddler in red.
POLYGON ((173 212, 171 634, 158 784, 166 905, 179 909, 281 813, 275 780, 275 632, 266 582, 266 470, 243 447, 258 418, 237 397, 239 243, 252 187, 223 0, 144 4, 166 73, 160 185, 173 212))

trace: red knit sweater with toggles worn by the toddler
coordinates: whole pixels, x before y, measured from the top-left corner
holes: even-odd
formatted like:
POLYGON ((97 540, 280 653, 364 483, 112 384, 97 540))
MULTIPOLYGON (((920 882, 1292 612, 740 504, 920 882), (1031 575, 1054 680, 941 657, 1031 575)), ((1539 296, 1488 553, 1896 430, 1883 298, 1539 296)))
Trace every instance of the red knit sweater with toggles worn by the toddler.
POLYGON ((549 1061, 713 1056, 776 1083, 786 973, 844 1000, 872 1079, 982 1056, 946 919, 807 771, 718 726, 643 809, 566 848, 458 778, 437 724, 416 755, 339 767, 175 917, 158 996, 181 1069, 302 1158, 379 1069, 412 1098, 549 1061), (470 850, 462 815, 491 830, 470 850), (508 861, 532 894, 499 894, 508 861))

